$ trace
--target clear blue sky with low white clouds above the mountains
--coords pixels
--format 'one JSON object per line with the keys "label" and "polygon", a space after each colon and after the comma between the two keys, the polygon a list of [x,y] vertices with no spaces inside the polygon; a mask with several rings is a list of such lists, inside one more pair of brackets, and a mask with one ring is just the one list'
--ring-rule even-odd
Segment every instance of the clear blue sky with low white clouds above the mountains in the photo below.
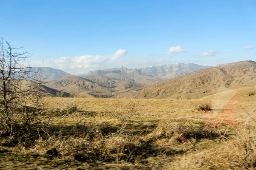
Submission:
{"label": "clear blue sky with low white clouds above the mountains", "polygon": [[0,23],[32,66],[71,74],[256,60],[255,0],[0,0]]}

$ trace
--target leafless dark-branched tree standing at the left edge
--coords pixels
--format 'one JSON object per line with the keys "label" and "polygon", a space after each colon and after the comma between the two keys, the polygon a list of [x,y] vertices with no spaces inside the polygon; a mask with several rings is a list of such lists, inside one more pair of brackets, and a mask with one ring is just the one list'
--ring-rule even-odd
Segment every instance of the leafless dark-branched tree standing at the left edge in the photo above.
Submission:
{"label": "leafless dark-branched tree standing at the left edge", "polygon": [[44,122],[41,75],[25,66],[30,54],[20,52],[22,48],[0,40],[0,128],[10,136],[14,128],[27,129]]}

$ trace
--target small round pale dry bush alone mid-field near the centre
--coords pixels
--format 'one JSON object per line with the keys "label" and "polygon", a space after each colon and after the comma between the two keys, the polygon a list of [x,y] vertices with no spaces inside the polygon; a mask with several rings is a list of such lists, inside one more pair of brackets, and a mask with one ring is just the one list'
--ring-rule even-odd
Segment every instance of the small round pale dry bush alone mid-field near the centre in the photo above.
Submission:
{"label": "small round pale dry bush alone mid-field near the centre", "polygon": [[111,108],[112,110],[108,111],[107,114],[124,123],[130,121],[132,117],[139,114],[140,105],[129,100],[129,102],[116,102]]}

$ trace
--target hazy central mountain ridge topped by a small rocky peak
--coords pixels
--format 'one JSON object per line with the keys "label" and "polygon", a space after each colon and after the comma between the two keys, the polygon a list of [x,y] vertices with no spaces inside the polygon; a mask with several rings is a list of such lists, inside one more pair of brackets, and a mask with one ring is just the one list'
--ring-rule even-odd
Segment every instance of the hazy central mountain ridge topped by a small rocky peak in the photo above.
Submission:
{"label": "hazy central mountain ridge topped by a small rocky peak", "polygon": [[86,76],[68,75],[57,80],[45,82],[49,88],[64,91],[69,94],[77,94],[81,97],[113,96],[113,92],[119,93],[131,89],[142,88],[163,82],[164,78],[153,77],[134,69],[121,67],[119,69],[96,70]]}

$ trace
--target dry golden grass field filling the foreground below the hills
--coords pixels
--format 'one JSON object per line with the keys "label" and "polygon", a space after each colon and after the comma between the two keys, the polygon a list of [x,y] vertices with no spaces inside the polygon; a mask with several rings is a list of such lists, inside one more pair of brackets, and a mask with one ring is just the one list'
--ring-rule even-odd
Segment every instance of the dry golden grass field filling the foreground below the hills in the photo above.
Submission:
{"label": "dry golden grass field filling the foreground below the hills", "polygon": [[[44,98],[49,129],[31,146],[1,139],[0,169],[254,169],[253,92],[190,100]],[[198,110],[203,103],[211,110]]]}

